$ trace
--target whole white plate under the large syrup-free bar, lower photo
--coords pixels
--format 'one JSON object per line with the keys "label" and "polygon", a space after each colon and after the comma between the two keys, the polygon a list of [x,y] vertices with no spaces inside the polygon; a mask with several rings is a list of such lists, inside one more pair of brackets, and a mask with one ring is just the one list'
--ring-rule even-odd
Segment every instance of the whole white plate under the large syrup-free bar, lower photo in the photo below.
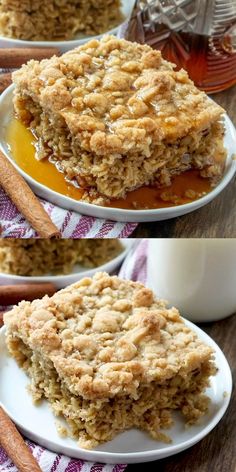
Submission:
{"label": "whole white plate under the large syrup-free bar, lower photo", "polygon": [[44,401],[37,407],[33,405],[26,390],[29,379],[16,362],[8,356],[5,346],[5,328],[0,330],[0,405],[26,437],[69,457],[92,462],[131,464],[172,456],[196,444],[216,426],[228,407],[232,390],[231,372],[223,352],[200,328],[189,321],[186,321],[186,324],[198,334],[202,341],[213,347],[219,371],[216,376],[212,377],[211,386],[207,389],[207,394],[211,398],[208,414],[198,425],[187,429],[183,419],[176,414],[175,425],[168,430],[173,440],[171,445],[157,442],[147,433],[135,429],[121,433],[112,441],[93,450],[81,449],[72,439],[60,438],[55,426],[55,417],[48,403]]}

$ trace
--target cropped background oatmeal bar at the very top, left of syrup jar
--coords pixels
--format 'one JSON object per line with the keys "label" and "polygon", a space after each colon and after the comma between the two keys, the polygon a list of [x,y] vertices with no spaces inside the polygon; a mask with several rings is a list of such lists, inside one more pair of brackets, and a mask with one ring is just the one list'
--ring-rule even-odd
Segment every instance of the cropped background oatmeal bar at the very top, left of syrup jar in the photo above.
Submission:
{"label": "cropped background oatmeal bar at the very top, left of syrup jar", "polygon": [[121,23],[120,0],[0,0],[0,32],[30,41],[105,33]]}

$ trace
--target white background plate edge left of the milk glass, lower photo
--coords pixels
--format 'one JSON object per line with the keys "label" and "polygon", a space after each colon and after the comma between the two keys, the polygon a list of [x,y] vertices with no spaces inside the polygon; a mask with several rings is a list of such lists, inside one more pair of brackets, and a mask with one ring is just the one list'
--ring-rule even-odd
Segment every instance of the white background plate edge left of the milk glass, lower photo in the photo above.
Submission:
{"label": "white background plate edge left of the milk glass, lower photo", "polygon": [[51,282],[53,283],[58,289],[64,288],[67,285],[73,284],[78,280],[82,279],[82,277],[92,277],[96,272],[108,272],[108,274],[112,273],[116,270],[124,258],[127,256],[129,250],[134,244],[134,239],[121,239],[120,242],[124,248],[124,250],[105,264],[96,267],[94,269],[88,269],[83,267],[82,265],[76,264],[70,274],[67,275],[41,275],[41,276],[33,276],[33,277],[26,277],[20,275],[12,275],[12,274],[4,274],[0,272],[0,285],[17,285],[17,284],[34,284],[34,283],[46,283]]}

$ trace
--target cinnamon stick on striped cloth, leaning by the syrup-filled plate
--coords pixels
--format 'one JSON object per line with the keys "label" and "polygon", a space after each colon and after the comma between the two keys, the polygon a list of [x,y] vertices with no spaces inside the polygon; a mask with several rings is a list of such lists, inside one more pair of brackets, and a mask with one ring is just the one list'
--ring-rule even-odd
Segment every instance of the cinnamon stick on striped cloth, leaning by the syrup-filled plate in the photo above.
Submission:
{"label": "cinnamon stick on striped cloth, leaning by the syrup-filled plate", "polygon": [[61,236],[28,184],[1,151],[0,185],[41,238]]}

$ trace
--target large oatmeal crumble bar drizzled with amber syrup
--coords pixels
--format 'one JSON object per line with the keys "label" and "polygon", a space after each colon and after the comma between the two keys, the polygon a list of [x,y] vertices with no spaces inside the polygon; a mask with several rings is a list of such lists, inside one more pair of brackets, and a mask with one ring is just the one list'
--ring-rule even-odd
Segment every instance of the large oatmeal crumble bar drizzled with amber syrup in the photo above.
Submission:
{"label": "large oatmeal crumble bar drizzled with amber syrup", "polygon": [[213,182],[222,175],[223,109],[147,45],[105,36],[30,61],[13,81],[15,112],[38,138],[37,158],[57,163],[88,200],[94,191],[109,199],[169,185],[190,168]]}

